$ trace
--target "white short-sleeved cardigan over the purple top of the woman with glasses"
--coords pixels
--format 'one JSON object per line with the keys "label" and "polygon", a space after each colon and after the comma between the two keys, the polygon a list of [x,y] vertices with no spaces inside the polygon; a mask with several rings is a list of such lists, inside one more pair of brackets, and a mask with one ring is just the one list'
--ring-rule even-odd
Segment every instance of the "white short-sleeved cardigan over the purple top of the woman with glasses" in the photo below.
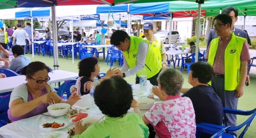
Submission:
{"label": "white short-sleeved cardigan over the purple top of the woman with glasses", "polygon": [[[50,89],[52,92],[56,92],[56,90],[54,90],[51,84],[49,83],[47,84],[50,86]],[[29,91],[27,91],[26,83],[20,84],[19,86],[14,88],[11,93],[9,108],[11,107],[12,101],[16,99],[22,98],[23,102],[27,102],[28,95],[29,95]]]}

